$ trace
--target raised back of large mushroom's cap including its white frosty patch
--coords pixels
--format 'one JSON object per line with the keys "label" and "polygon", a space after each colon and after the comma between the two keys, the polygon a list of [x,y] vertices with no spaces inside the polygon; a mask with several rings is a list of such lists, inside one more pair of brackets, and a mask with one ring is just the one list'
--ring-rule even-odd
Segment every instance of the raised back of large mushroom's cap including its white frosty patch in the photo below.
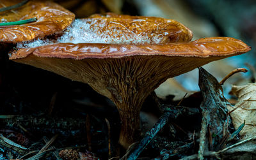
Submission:
{"label": "raised back of large mushroom's cap including its white frosty patch", "polygon": [[192,37],[192,31],[175,20],[108,13],[74,20],[57,39],[22,42],[17,48],[51,43],[166,44]]}

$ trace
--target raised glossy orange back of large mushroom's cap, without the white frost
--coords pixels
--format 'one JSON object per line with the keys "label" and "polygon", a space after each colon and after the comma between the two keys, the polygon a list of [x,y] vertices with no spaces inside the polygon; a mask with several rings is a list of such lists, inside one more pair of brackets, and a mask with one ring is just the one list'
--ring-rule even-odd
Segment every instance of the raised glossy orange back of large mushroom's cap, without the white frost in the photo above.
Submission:
{"label": "raised glossy orange back of large mushroom's cap, without the white frost", "polygon": [[188,27],[172,19],[107,13],[106,15],[95,14],[82,20],[88,19],[94,20],[93,26],[99,25],[101,32],[110,36],[113,36],[116,30],[120,35],[147,36],[150,43],[158,44],[191,41],[193,38],[193,33]]}

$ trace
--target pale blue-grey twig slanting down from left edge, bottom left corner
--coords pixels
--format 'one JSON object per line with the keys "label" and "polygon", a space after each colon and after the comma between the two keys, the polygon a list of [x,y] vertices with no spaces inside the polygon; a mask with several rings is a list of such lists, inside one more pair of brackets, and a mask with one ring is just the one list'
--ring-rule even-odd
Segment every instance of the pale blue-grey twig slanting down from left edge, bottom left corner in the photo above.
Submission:
{"label": "pale blue-grey twig slanting down from left edge, bottom left corner", "polygon": [[0,144],[8,147],[9,149],[13,149],[19,154],[25,154],[28,150],[26,147],[22,147],[21,145],[13,142],[12,140],[9,140],[8,138],[4,137],[2,134],[0,134]]}

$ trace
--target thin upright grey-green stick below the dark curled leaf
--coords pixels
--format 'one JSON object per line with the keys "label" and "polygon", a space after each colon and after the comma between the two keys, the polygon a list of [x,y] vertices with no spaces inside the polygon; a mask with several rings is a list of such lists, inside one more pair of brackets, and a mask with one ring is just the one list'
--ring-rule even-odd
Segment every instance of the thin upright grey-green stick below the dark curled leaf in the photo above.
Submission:
{"label": "thin upright grey-green stick below the dark curled leaf", "polygon": [[198,150],[198,159],[204,159],[204,149],[205,149],[205,135],[207,133],[207,110],[202,110],[202,127],[200,131],[200,143]]}

